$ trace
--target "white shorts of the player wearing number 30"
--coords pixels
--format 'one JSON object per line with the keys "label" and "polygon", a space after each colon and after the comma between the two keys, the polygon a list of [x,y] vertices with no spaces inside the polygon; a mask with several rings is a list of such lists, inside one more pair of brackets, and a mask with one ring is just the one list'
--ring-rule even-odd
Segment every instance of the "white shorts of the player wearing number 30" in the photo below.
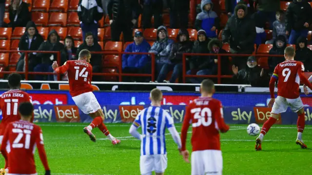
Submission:
{"label": "white shorts of the player wearing number 30", "polygon": [[191,156],[192,175],[222,175],[220,150],[194,151]]}

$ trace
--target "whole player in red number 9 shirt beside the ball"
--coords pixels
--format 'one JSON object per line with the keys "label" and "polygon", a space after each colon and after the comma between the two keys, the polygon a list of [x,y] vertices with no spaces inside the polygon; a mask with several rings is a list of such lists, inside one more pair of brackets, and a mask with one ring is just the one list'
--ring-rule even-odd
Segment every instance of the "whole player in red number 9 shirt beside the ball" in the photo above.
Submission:
{"label": "whole player in red number 9 shirt beside the ball", "polygon": [[[302,132],[305,126],[304,116],[304,105],[300,98],[299,84],[300,80],[312,89],[312,85],[308,79],[303,75],[304,66],[300,61],[294,61],[295,50],[289,46],[284,51],[284,57],[286,61],[278,64],[275,67],[272,78],[270,80],[270,93],[271,100],[268,107],[272,107],[271,117],[266,121],[260,132],[259,137],[256,139],[255,150],[262,150],[261,143],[265,134],[268,133],[271,126],[277,121],[280,113],[286,112],[288,106],[293,112],[298,114],[297,120],[297,140],[296,144],[300,145],[301,148],[307,148],[307,145],[302,141]],[[276,80],[277,83],[277,97],[274,96],[274,85]]]}

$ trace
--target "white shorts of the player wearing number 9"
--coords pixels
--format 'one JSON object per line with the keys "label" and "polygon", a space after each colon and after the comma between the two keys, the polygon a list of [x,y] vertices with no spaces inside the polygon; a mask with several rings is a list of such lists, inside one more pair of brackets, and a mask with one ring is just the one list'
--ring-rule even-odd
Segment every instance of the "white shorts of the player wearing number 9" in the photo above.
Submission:
{"label": "white shorts of the player wearing number 9", "polygon": [[300,109],[304,107],[300,97],[296,99],[287,99],[281,96],[277,96],[274,105],[272,107],[271,113],[280,114],[286,112],[288,106],[291,107],[293,112],[298,112]]}

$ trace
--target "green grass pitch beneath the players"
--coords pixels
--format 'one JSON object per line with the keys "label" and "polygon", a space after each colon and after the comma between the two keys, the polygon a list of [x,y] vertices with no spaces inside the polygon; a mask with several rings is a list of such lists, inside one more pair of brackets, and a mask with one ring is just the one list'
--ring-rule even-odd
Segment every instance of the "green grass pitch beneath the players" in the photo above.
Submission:
{"label": "green grass pitch beneath the players", "polygon": [[[120,145],[112,145],[95,129],[94,143],[82,132],[84,124],[41,123],[45,149],[52,174],[56,175],[139,175],[140,142],[128,133],[129,124],[107,124],[115,137],[128,137]],[[254,151],[255,137],[246,133],[247,125],[231,125],[221,134],[224,175],[311,175],[312,149],[301,149],[295,144],[295,125],[274,125],[265,136],[263,151]],[[283,127],[283,128],[281,128]],[[178,131],[181,125],[176,124]],[[190,139],[191,133],[188,134]],[[191,165],[183,161],[170,135],[167,138],[167,175],[190,175]],[[99,140],[101,139],[101,140]],[[305,143],[312,146],[312,127],[303,134]],[[187,147],[191,151],[190,140]],[[36,153],[37,171],[44,172]],[[4,165],[0,158],[0,165]]]}

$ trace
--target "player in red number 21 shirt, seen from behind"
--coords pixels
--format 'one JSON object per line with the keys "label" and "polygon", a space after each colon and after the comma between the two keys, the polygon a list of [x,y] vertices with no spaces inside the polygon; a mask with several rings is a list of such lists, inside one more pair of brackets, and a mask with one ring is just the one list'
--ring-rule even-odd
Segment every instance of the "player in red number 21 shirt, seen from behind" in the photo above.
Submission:
{"label": "player in red number 21 shirt, seen from behind", "polygon": [[37,175],[34,159],[35,146],[38,148],[45,175],[50,175],[41,128],[30,122],[34,106],[30,102],[21,103],[19,112],[21,120],[7,125],[0,148],[4,159],[8,161],[7,175]]}

